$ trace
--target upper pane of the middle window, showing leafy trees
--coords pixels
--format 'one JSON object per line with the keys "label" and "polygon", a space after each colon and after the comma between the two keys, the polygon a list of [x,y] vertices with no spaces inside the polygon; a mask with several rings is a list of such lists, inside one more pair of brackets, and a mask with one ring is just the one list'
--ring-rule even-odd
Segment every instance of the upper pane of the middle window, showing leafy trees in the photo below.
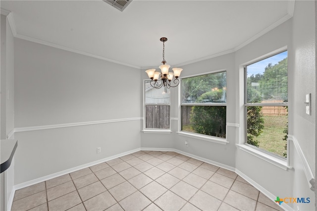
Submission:
{"label": "upper pane of the middle window, showing leafy trees", "polygon": [[226,103],[226,72],[182,79],[182,103]]}

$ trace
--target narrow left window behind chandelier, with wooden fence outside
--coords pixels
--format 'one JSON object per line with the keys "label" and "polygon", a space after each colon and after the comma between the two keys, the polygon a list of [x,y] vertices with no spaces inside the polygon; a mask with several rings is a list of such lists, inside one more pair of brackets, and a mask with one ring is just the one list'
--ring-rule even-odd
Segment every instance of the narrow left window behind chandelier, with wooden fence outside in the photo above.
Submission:
{"label": "narrow left window behind chandelier, with wooden fence outside", "polygon": [[145,129],[170,129],[170,90],[153,88],[150,80],[144,83]]}

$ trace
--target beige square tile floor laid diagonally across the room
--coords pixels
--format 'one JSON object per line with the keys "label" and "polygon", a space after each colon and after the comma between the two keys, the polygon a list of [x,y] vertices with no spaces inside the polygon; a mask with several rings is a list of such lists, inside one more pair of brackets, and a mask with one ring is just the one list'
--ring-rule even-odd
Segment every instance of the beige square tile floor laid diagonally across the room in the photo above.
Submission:
{"label": "beige square tile floor laid diagonally across the room", "polygon": [[139,151],[17,190],[11,210],[282,211],[232,171],[158,151]]}

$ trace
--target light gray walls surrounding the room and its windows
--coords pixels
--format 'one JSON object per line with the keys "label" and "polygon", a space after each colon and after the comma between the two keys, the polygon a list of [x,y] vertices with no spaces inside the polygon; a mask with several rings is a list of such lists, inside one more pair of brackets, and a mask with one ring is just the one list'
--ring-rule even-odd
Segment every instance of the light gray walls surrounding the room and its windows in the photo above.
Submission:
{"label": "light gray walls surrounding the room and its windows", "polygon": [[[296,1],[293,18],[247,46],[234,53],[182,66],[182,77],[226,69],[227,122],[240,125],[227,127],[229,143],[226,145],[177,133],[179,87],[171,90],[172,132],[143,133],[142,120],[129,120],[143,116],[143,79],[147,79],[143,70],[14,38],[14,136],[19,140],[15,184],[135,149],[172,149],[236,169],[272,196],[310,197],[310,204],[296,206],[300,210],[314,210],[314,192],[310,190],[301,156],[305,155],[316,177],[315,16],[315,1]],[[288,156],[294,168],[287,170],[236,146],[244,142],[240,67],[285,46],[289,53],[289,134],[302,150],[299,154],[290,142]],[[125,75],[118,80],[129,79],[129,83],[118,85],[113,80],[116,75]],[[7,86],[10,83],[13,84],[6,81]],[[308,93],[312,93],[311,116],[305,114],[303,104]],[[6,104],[6,110],[9,107],[12,106]],[[12,114],[6,112],[6,116],[13,116],[13,111],[9,113]],[[13,118],[10,119],[6,130],[12,128]],[[120,121],[112,121],[117,119]],[[75,126],[85,122],[97,123]],[[60,127],[50,128],[52,125]],[[185,147],[185,140],[189,147]],[[96,154],[97,147],[102,148],[101,154]],[[289,206],[297,210],[294,205]]]}

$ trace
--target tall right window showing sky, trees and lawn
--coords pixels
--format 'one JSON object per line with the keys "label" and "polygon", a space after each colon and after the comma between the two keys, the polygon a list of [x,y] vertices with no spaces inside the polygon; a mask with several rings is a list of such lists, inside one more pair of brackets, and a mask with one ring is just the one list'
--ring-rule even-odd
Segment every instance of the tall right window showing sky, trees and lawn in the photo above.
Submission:
{"label": "tall right window showing sky, trees and lawn", "polygon": [[286,158],[287,51],[245,67],[246,143]]}

